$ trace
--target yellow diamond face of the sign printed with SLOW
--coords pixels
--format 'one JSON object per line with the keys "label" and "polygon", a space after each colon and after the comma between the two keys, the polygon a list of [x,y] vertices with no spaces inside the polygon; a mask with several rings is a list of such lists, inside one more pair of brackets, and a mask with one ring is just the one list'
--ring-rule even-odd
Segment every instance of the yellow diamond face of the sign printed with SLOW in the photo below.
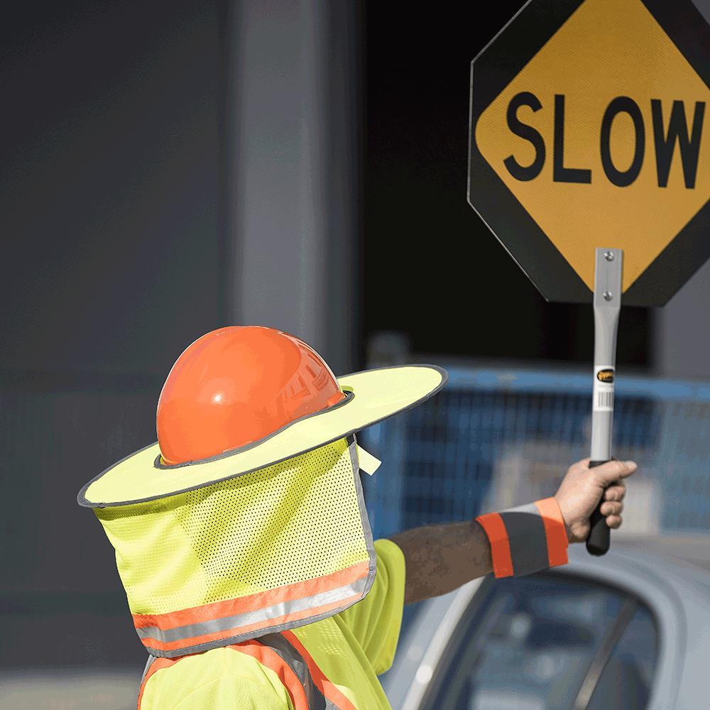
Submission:
{"label": "yellow diamond face of the sign printed with SLOW", "polygon": [[[653,5],[568,2],[569,16],[477,116],[474,62],[476,155],[589,290],[596,247],[623,249],[626,292],[710,197],[710,89]],[[479,209],[474,184],[469,201]]]}

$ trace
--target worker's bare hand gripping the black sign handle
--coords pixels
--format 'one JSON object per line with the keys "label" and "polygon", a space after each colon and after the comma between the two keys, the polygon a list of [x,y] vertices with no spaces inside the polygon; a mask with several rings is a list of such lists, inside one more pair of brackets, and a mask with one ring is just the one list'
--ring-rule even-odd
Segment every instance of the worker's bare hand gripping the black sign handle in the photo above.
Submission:
{"label": "worker's bare hand gripping the black sign handle", "polygon": [[608,461],[590,469],[589,459],[582,459],[569,466],[555,493],[569,542],[584,542],[589,536],[589,516],[602,497],[601,514],[606,517],[606,524],[614,529],[621,527],[623,497],[626,496],[623,479],[635,470],[633,461]]}

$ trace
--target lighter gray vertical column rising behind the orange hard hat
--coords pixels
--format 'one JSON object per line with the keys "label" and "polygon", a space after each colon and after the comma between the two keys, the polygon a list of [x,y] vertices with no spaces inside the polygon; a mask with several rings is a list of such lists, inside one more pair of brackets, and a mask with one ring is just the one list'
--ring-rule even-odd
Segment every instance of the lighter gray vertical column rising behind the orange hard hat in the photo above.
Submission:
{"label": "lighter gray vertical column rising behind the orange hard hat", "polygon": [[231,13],[228,317],[292,332],[348,371],[359,320],[358,11],[245,0]]}

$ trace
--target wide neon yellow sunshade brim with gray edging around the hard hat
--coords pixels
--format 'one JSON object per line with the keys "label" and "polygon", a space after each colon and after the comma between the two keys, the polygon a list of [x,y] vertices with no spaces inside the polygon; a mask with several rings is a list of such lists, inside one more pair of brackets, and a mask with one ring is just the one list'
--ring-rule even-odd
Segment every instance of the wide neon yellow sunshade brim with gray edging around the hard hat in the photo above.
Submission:
{"label": "wide neon yellow sunshade brim with gray edging around the hard hat", "polygon": [[274,432],[258,442],[202,461],[160,464],[158,443],[130,454],[79,492],[85,508],[127,506],[167,498],[249,474],[305,454],[415,407],[437,393],[447,373],[436,365],[384,367],[344,375],[338,383],[347,397]]}

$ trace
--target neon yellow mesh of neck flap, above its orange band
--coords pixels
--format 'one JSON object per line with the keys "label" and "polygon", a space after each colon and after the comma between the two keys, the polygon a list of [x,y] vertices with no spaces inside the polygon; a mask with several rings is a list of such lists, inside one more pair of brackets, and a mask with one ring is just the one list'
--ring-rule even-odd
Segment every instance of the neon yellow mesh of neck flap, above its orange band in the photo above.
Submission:
{"label": "neon yellow mesh of neck flap, above its orange band", "polygon": [[94,512],[131,612],[167,613],[366,562],[355,475],[340,439],[196,491]]}

